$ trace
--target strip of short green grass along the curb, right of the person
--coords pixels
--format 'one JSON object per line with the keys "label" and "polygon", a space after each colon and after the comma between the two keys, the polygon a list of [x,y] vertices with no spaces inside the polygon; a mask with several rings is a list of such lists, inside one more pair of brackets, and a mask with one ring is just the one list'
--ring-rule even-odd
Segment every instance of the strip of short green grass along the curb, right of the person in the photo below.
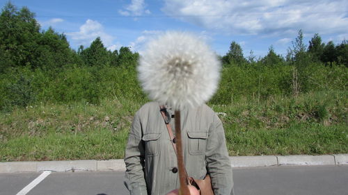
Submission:
{"label": "strip of short green grass along the curb, right of the person", "polygon": [[348,152],[346,125],[292,124],[288,128],[240,131],[228,128],[230,155],[321,155]]}

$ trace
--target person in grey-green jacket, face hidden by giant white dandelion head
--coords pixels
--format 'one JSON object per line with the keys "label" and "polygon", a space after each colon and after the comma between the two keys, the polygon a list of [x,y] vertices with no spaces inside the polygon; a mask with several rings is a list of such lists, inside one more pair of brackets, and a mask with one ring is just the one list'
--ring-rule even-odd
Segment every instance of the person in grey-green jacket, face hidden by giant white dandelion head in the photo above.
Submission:
{"label": "person in grey-green jacket, face hidden by giant white dandelion head", "polygon": [[[180,194],[188,195],[192,188],[185,178],[209,174],[215,195],[233,194],[223,126],[205,104],[217,90],[221,61],[199,36],[186,32],[168,31],[146,47],[138,78],[153,101],[136,112],[129,132],[127,189],[132,195],[164,195],[180,187]],[[177,137],[171,138],[168,124]]]}

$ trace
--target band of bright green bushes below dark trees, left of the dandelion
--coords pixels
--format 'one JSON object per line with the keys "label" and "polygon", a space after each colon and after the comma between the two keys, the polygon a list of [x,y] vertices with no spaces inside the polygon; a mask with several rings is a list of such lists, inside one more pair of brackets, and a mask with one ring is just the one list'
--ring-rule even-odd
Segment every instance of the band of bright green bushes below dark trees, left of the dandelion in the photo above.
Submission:
{"label": "band of bright green bushes below dark trees, left of the dandelion", "polygon": [[73,65],[63,69],[42,70],[17,68],[0,75],[0,108],[25,107],[36,102],[100,103],[105,97],[144,101],[136,68],[84,67]]}

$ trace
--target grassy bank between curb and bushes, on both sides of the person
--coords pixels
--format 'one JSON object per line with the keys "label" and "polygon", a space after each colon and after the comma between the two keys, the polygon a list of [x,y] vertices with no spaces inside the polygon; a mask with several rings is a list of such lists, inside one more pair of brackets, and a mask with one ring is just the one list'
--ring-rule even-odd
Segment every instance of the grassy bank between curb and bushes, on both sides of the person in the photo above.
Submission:
{"label": "grassy bank between curb and bushes, on both sides of the person", "polygon": [[[230,155],[348,153],[345,91],[209,104],[220,115]],[[0,160],[123,158],[129,126],[145,102],[40,103],[0,113]]]}

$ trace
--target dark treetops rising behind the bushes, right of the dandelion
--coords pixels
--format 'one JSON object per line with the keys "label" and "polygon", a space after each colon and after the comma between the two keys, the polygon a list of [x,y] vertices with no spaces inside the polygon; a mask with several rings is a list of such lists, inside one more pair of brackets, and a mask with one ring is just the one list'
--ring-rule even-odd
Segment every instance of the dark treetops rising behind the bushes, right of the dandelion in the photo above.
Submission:
{"label": "dark treetops rising behind the bushes, right of the dandelion", "polygon": [[257,62],[259,65],[294,65],[298,60],[306,59],[307,62],[319,62],[324,65],[340,64],[348,67],[348,41],[343,40],[340,44],[333,41],[322,42],[319,34],[309,41],[308,46],[303,42],[303,32],[300,30],[292,47],[287,49],[287,56],[280,56],[270,46],[269,51],[263,58],[256,58],[253,51],[250,56],[244,57],[242,47],[235,41],[230,44],[230,50],[221,57],[225,65],[247,65]]}

